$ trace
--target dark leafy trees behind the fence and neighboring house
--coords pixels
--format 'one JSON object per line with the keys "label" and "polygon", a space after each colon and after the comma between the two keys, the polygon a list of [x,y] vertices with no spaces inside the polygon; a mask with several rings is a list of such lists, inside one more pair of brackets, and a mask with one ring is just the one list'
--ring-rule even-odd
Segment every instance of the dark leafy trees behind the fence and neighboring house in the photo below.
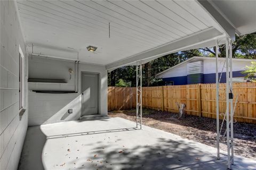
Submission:
{"label": "dark leafy trees behind the fence and neighboring house", "polygon": [[[234,58],[252,58],[256,59],[256,33],[236,37],[232,44]],[[215,47],[205,47],[199,49],[185,50],[178,53],[168,54],[159,57],[142,65],[142,86],[161,86],[164,81],[156,77],[156,74],[170,67],[177,65],[193,56],[215,57]],[[219,57],[226,56],[225,45],[219,46]],[[118,80],[122,79],[126,86],[136,86],[136,67],[124,66],[112,71],[108,75],[108,85],[117,86]],[[119,86],[119,85],[118,85]]]}

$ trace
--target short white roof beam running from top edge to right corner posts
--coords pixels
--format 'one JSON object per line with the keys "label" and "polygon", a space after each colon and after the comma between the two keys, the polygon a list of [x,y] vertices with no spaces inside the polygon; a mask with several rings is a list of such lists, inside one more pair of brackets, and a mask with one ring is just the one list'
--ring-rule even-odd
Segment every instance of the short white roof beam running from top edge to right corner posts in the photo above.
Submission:
{"label": "short white roof beam running from top edge to right corner posts", "polygon": [[219,12],[216,6],[206,0],[197,0],[197,2],[212,16],[213,20],[220,25],[227,36],[229,36],[230,39],[235,40],[236,28],[233,27],[233,25]]}

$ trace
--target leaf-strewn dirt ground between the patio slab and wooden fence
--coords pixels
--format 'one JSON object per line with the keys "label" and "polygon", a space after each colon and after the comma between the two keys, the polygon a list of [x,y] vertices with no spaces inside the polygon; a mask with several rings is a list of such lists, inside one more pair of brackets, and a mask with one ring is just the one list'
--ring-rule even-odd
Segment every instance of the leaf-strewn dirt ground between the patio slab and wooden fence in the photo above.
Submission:
{"label": "leaf-strewn dirt ground between the patio slab and wooden fence", "polygon": [[[109,112],[109,116],[136,121],[135,109]],[[177,113],[143,109],[142,124],[216,147],[216,120],[212,118],[186,115],[185,118],[178,119]],[[225,130],[226,122],[221,134]],[[221,138],[220,149],[224,151],[227,150],[225,142]],[[255,124],[234,123],[234,151],[236,155],[256,159]]]}

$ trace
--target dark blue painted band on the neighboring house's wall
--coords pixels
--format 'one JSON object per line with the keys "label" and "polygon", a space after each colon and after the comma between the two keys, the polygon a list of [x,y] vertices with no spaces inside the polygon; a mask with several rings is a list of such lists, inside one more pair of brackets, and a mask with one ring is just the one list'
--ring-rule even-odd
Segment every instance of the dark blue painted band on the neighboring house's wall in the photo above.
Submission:
{"label": "dark blue painted band on the neighboring house's wall", "polygon": [[[245,75],[241,73],[242,71],[233,71],[233,77],[244,77]],[[220,77],[219,73],[219,77]],[[192,74],[190,74],[192,75]],[[215,73],[210,73],[210,74],[202,74],[203,80],[201,80],[200,83],[215,83]],[[180,77],[172,77],[172,78],[163,78],[163,81],[169,82],[173,81],[174,85],[186,85],[190,81],[189,75],[188,76],[180,76]],[[221,76],[221,83],[226,83],[226,72],[222,73]],[[199,82],[198,82],[199,83]]]}

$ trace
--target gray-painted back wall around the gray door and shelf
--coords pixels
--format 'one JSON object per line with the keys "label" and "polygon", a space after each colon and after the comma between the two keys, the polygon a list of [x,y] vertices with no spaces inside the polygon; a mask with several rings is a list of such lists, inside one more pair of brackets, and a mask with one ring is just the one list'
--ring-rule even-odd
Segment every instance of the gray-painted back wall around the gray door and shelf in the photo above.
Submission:
{"label": "gray-painted back wall around the gray door and shelf", "polygon": [[[70,80],[69,69],[74,71]],[[99,73],[99,113],[107,115],[107,70],[105,66],[79,64],[77,94],[41,94],[32,90],[75,90],[75,63],[30,56],[29,78],[65,79],[67,83],[29,82],[29,126],[79,119],[82,71]],[[68,114],[68,109],[73,109],[73,113]]]}

